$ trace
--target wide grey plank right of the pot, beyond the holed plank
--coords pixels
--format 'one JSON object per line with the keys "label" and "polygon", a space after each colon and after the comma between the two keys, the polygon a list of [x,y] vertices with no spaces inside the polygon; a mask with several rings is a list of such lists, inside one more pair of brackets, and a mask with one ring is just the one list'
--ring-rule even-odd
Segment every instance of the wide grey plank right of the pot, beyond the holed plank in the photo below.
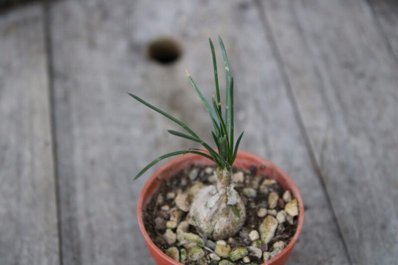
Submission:
{"label": "wide grey plank right of the pot, beyond the holed plank", "polygon": [[363,1],[264,2],[354,264],[398,253],[397,61]]}

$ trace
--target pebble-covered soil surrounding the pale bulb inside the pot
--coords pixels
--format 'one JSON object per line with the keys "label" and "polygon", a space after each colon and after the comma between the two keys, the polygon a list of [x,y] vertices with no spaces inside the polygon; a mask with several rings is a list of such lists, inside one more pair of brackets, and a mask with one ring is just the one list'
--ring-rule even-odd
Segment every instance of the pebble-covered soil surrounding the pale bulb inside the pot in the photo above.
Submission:
{"label": "pebble-covered soil surrounding the pale bulb inside the pot", "polygon": [[145,229],[166,255],[187,265],[262,264],[278,255],[297,230],[298,204],[290,191],[255,167],[232,169],[246,208],[246,220],[233,237],[212,241],[189,225],[190,203],[200,188],[213,184],[215,168],[192,165],[163,180],[143,211]]}

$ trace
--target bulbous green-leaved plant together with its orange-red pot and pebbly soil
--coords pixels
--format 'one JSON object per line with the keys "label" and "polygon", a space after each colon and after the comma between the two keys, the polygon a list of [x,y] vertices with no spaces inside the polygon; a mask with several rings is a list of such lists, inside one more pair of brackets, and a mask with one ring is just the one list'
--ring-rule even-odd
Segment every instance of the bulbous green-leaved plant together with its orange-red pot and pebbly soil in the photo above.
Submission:
{"label": "bulbous green-leaved plant together with its orange-red pot and pebbly soil", "polygon": [[302,199],[281,169],[238,151],[243,132],[234,142],[233,78],[224,44],[220,37],[218,40],[226,76],[225,109],[210,39],[216,91],[212,105],[187,72],[210,116],[216,149],[183,122],[129,93],[187,131],[169,133],[203,147],[160,156],[137,174],[135,179],[159,161],[179,155],[143,187],[137,210],[139,226],[158,264],[285,264],[301,231]]}

